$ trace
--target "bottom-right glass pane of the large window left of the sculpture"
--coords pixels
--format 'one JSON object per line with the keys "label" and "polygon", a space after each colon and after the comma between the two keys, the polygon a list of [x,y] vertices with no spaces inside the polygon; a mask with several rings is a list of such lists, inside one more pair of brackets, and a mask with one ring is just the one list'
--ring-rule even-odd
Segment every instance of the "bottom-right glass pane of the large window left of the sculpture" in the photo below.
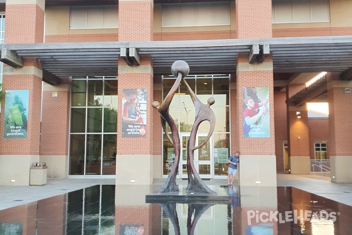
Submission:
{"label": "bottom-right glass pane of the large window left of the sculpture", "polygon": [[103,136],[103,175],[116,174],[116,137],[117,135]]}

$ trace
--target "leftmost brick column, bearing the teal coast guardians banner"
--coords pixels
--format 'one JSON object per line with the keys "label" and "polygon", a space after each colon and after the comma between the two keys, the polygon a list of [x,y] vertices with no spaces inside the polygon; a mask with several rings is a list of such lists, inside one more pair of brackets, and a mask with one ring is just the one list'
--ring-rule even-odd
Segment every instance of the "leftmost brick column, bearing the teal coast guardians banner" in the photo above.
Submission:
{"label": "leftmost brick column, bearing the teal coast guardians banner", "polygon": [[[20,3],[20,4],[19,4]],[[42,43],[44,0],[6,1],[5,43]],[[27,138],[0,138],[0,185],[29,184],[29,167],[39,161],[42,67],[34,58],[24,58],[23,68],[4,66],[3,89],[29,90]],[[26,97],[23,97],[26,99]],[[3,100],[4,101],[4,100]],[[2,102],[1,135],[5,102]],[[14,183],[10,183],[14,179]]]}

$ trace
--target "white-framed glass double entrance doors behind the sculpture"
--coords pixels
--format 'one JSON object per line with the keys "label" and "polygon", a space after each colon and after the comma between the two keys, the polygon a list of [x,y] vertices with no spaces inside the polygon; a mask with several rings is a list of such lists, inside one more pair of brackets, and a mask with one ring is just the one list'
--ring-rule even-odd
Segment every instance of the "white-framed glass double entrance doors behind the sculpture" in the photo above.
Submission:
{"label": "white-framed glass double entrance doors behind the sculpture", "polygon": [[[207,134],[197,134],[196,136],[196,146],[202,143]],[[180,178],[187,178],[187,142],[189,140],[189,134],[181,134],[181,156],[182,159],[180,161]],[[212,143],[212,138],[207,141],[201,148],[196,149],[194,151],[194,166],[203,179],[212,179],[213,178],[213,147],[210,143]]]}

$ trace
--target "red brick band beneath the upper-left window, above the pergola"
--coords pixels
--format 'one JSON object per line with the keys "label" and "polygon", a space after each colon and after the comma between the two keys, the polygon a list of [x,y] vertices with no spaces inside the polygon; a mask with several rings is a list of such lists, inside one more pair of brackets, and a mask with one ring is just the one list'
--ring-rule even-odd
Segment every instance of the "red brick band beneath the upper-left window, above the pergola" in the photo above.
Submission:
{"label": "red brick band beneath the upper-left window, above the pergola", "polygon": [[45,35],[45,42],[115,42],[118,33]]}

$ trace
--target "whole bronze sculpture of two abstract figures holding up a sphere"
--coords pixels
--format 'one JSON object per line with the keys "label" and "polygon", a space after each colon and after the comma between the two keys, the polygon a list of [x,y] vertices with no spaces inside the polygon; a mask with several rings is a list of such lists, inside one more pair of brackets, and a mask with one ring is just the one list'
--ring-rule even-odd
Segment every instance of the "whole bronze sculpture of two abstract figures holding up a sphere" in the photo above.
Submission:
{"label": "whole bronze sculpture of two abstract figures holding up a sphere", "polygon": [[[210,97],[207,101],[207,104],[203,104],[192,91],[192,89],[187,84],[187,81],[184,79],[189,73],[189,66],[185,61],[175,61],[171,66],[172,75],[174,75],[177,79],[174,85],[171,87],[169,93],[166,95],[165,99],[161,104],[158,101],[154,101],[152,106],[158,110],[161,115],[161,123],[163,126],[163,130],[169,139],[169,141],[174,146],[175,151],[175,161],[174,165],[171,168],[168,178],[166,179],[165,183],[161,187],[160,193],[170,193],[170,192],[178,192],[179,189],[176,185],[176,174],[178,170],[178,164],[180,162],[180,136],[178,134],[177,127],[175,125],[174,120],[169,115],[168,109],[171,103],[172,98],[175,95],[175,92],[178,89],[178,85],[180,84],[181,80],[183,84],[186,86],[190,97],[193,101],[195,107],[195,121],[192,126],[190,137],[187,143],[187,175],[188,175],[188,185],[186,188],[186,192],[193,192],[193,193],[209,193],[209,194],[216,194],[213,190],[211,190],[200,178],[199,174],[196,171],[194,166],[194,150],[201,148],[207,141],[210,139],[210,136],[213,134],[214,127],[215,127],[215,115],[212,109],[210,109],[210,105],[215,103],[215,99]],[[210,123],[210,128],[207,137],[203,142],[201,142],[198,146],[195,147],[196,142],[196,135],[199,128],[199,125],[203,121],[208,121]],[[166,122],[169,124],[172,134],[172,139],[168,134],[166,129]]]}

